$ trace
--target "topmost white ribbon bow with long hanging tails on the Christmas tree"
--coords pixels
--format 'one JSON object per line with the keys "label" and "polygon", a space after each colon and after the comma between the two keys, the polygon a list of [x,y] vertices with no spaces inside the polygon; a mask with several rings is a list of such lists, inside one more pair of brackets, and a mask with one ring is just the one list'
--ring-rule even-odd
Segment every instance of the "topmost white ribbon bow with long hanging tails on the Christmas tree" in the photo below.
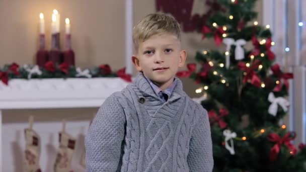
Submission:
{"label": "topmost white ribbon bow with long hanging tails on the Christmas tree", "polygon": [[242,60],[245,58],[245,52],[242,48],[242,45],[245,45],[247,42],[244,39],[239,39],[235,42],[233,38],[224,38],[223,43],[226,45],[226,51],[228,54],[225,55],[225,67],[228,69],[230,67],[230,50],[232,45],[236,45],[235,48],[235,59]]}

